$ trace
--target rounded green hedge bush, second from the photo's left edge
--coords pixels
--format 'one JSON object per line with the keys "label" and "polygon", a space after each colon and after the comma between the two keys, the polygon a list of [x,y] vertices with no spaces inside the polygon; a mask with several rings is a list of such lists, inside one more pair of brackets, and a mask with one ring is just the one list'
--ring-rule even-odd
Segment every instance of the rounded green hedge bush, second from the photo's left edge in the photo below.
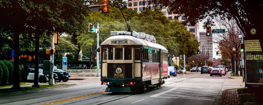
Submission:
{"label": "rounded green hedge bush, second from the photo's left edge", "polygon": [[3,61],[0,61],[0,66],[2,67],[2,70],[3,70],[3,77],[1,80],[1,85],[6,85],[8,84],[9,71]]}

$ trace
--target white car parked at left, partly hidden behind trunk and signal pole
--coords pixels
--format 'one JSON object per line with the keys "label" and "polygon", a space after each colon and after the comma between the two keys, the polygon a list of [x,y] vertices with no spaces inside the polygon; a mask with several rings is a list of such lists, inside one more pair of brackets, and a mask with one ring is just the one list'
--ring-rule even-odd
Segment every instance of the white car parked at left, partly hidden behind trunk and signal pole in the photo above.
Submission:
{"label": "white car parked at left, partly hidden behind trunk and signal pole", "polygon": [[[35,77],[35,68],[28,68],[27,80],[34,80]],[[58,75],[55,74],[55,80],[58,81]],[[43,74],[43,69],[38,68],[38,82],[46,83],[48,82],[48,75]]]}

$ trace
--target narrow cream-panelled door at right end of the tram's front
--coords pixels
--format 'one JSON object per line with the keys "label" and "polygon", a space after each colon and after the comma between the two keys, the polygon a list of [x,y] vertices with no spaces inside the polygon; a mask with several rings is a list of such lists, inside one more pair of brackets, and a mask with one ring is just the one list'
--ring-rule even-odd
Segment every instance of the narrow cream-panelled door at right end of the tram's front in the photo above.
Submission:
{"label": "narrow cream-panelled door at right end of the tram's front", "polygon": [[141,52],[140,48],[134,49],[134,77],[141,77]]}

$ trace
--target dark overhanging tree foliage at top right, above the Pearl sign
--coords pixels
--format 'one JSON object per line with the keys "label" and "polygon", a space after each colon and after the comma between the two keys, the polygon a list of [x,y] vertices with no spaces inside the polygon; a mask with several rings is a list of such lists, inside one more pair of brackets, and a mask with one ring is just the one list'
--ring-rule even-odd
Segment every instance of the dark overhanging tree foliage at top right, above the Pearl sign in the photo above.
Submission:
{"label": "dark overhanging tree foliage at top right, above the Pearl sign", "polygon": [[[263,1],[219,1],[219,0],[186,0],[186,1],[169,1],[169,0],[150,0],[149,4],[154,6],[168,7],[169,12],[178,15],[184,15],[184,23],[196,24],[205,18],[213,19],[218,15],[223,18],[235,19],[237,26],[244,33],[244,26],[248,24],[262,24],[261,16],[258,16],[257,10],[262,10]],[[205,22],[205,27],[209,24]]]}

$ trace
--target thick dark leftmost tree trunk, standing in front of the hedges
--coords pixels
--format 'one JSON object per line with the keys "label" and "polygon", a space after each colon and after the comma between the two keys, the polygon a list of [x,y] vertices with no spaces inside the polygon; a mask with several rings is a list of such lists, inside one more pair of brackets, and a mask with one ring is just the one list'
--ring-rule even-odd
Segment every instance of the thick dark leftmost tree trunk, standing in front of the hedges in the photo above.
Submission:
{"label": "thick dark leftmost tree trunk, standing in front of the hedges", "polygon": [[19,31],[18,29],[15,29],[15,33],[14,33],[14,48],[15,48],[15,52],[14,52],[14,83],[13,83],[13,87],[11,89],[21,89],[20,85],[19,85]]}

